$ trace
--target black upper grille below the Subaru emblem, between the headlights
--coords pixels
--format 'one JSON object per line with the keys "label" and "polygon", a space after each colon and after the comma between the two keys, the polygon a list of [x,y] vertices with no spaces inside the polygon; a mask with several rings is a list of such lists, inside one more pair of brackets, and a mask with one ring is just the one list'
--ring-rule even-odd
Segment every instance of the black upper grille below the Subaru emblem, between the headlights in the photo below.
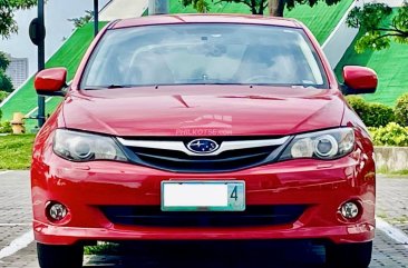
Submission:
{"label": "black upper grille below the Subaru emblem, between the headlights", "polygon": [[[179,142],[183,147],[187,143]],[[146,147],[132,143],[124,147],[130,160],[143,166],[175,172],[226,172],[272,162],[284,148],[284,142],[231,149],[211,156],[188,155],[177,149],[152,148],[149,143],[146,143]]]}

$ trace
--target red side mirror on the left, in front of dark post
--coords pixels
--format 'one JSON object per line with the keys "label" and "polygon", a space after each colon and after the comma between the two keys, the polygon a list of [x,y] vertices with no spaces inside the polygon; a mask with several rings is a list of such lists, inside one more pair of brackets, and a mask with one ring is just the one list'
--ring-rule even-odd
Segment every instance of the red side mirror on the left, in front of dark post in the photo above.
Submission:
{"label": "red side mirror on the left, in front of dark post", "polygon": [[65,96],[62,89],[67,87],[67,69],[51,68],[37,73],[35,88],[38,95]]}

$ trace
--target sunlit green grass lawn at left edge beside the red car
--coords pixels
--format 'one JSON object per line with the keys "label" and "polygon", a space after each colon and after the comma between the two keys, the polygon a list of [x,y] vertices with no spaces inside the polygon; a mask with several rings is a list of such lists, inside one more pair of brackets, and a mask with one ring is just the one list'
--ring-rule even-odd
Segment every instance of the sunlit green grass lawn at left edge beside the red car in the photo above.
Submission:
{"label": "sunlit green grass lawn at left edge beside the red car", "polygon": [[33,135],[0,136],[0,170],[29,169]]}

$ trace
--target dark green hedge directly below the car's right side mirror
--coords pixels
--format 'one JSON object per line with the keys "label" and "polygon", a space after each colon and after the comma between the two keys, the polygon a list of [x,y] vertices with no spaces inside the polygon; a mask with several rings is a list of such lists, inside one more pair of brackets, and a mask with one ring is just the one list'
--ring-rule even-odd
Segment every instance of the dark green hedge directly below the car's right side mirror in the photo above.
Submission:
{"label": "dark green hedge directly below the car's right side mirror", "polygon": [[346,99],[367,127],[382,127],[395,121],[394,110],[388,106],[370,103],[358,96],[348,96]]}

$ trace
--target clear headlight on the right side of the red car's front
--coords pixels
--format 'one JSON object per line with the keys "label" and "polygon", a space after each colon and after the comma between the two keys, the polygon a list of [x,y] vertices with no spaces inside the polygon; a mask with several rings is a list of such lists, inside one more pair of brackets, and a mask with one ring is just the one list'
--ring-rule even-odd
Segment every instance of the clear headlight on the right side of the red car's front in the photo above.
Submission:
{"label": "clear headlight on the right side of the red car's front", "polygon": [[352,128],[339,128],[294,137],[280,160],[295,158],[337,159],[354,149]]}

